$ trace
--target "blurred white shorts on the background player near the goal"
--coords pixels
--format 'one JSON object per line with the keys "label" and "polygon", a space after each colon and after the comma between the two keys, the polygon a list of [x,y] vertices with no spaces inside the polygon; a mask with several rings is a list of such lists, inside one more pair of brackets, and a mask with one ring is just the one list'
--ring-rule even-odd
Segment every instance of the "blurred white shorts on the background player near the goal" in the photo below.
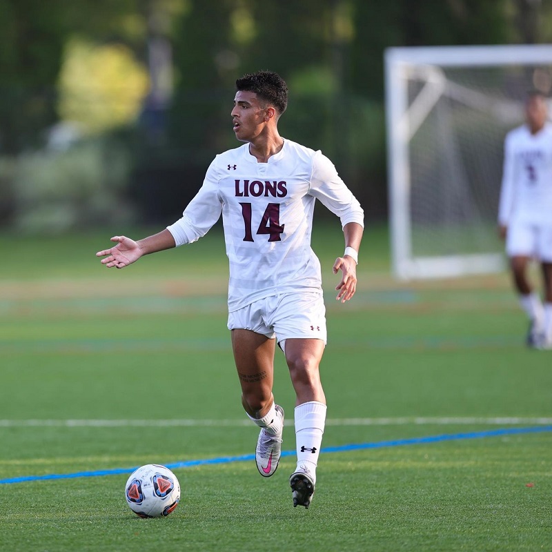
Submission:
{"label": "blurred white shorts on the background player near the goal", "polygon": [[506,233],[506,254],[552,262],[552,224],[513,222]]}

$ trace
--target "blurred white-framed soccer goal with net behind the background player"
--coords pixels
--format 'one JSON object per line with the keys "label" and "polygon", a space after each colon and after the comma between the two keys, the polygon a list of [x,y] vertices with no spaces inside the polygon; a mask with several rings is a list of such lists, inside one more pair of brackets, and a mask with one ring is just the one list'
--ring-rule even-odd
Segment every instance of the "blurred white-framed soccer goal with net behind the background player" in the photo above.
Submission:
{"label": "blurred white-framed soccer goal with net behind the background player", "polygon": [[394,275],[502,270],[504,137],[551,91],[552,46],[388,48],[385,70]]}

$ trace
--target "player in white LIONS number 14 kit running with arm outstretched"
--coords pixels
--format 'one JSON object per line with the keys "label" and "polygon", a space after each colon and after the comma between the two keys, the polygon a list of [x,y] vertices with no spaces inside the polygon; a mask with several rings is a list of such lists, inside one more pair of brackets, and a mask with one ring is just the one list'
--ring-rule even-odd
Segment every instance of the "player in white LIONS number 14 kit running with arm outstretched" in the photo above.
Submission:
{"label": "player in white LIONS number 14 kit running with arm outstretched", "polygon": [[264,477],[273,475],[282,451],[284,410],[273,397],[277,342],[296,394],[293,506],[308,508],[326,421],[319,376],[326,317],[320,263],[311,249],[315,199],[341,220],[345,250],[333,273],[341,271],[336,299],[342,303],[355,294],[364,213],[327,157],[279,135],[278,119],[288,100],[279,75],[244,75],[236,88],[230,115],[244,144],[215,157],[175,224],[138,242],[112,237],[117,245],[97,256],[108,268],[124,268],[142,255],[195,242],[222,214],[230,263],[228,329],[242,404],[261,428],[257,469]]}

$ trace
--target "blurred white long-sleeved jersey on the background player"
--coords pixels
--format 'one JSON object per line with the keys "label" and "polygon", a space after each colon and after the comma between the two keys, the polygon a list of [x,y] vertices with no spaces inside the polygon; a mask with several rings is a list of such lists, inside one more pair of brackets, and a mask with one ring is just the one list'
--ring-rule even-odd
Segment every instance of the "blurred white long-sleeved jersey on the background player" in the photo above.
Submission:
{"label": "blurred white long-sleeved jersey on the background player", "polygon": [[506,135],[498,220],[552,224],[552,124],[535,135],[526,125]]}

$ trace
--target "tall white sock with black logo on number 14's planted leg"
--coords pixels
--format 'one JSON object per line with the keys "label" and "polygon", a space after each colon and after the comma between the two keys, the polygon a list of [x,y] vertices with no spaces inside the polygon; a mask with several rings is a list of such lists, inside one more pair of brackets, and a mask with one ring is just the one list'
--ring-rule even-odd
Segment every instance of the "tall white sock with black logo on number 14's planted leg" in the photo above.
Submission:
{"label": "tall white sock with black logo on number 14's planted leg", "polygon": [[316,482],[316,466],[326,425],[326,405],[311,401],[295,407],[297,471],[308,471]]}

